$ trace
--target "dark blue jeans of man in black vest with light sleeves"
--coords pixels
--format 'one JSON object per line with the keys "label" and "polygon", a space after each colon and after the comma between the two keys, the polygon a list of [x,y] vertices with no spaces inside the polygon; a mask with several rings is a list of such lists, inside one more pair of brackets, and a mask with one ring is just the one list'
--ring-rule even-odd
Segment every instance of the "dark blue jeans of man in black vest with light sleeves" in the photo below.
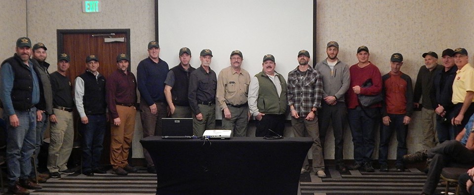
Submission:
{"label": "dark blue jeans of man in black vest with light sleeves", "polygon": [[80,129],[82,135],[82,171],[84,172],[99,168],[107,122],[105,114],[89,115],[87,118],[89,123],[81,123],[82,128]]}

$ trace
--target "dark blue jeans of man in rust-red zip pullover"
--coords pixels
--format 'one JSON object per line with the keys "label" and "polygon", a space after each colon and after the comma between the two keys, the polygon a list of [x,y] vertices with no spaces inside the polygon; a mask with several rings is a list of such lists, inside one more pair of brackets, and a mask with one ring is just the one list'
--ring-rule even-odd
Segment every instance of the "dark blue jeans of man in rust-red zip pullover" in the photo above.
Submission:
{"label": "dark blue jeans of man in rust-red zip pullover", "polygon": [[379,163],[387,164],[389,156],[389,144],[392,133],[395,131],[396,140],[398,142],[396,146],[396,161],[395,166],[403,166],[403,155],[406,155],[406,136],[408,125],[403,124],[403,118],[405,115],[388,115],[390,117],[389,126],[380,124],[380,145],[379,145]]}

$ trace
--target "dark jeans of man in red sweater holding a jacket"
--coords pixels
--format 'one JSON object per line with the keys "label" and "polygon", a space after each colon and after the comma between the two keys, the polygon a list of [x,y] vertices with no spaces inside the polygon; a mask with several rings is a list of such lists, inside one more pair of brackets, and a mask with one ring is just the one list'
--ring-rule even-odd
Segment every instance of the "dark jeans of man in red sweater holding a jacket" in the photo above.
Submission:
{"label": "dark jeans of man in red sweater holding a jacket", "polygon": [[[379,108],[364,108],[360,106],[348,109],[349,127],[354,142],[354,160],[356,163],[371,162],[375,148],[375,121]],[[376,117],[369,117],[376,116]]]}

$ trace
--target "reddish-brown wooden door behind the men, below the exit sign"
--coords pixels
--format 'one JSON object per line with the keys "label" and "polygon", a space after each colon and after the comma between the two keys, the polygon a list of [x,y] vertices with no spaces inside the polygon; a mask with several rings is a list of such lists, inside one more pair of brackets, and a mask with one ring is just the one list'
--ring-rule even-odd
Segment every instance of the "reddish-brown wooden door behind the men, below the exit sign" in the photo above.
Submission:
{"label": "reddish-brown wooden door behind the men, below the exit sign", "polygon": [[[106,38],[124,38],[125,41],[105,42]],[[86,70],[86,57],[92,54],[96,55],[99,59],[98,72],[107,79],[117,69],[117,55],[126,53],[130,56],[129,39],[129,29],[58,30],[58,54],[64,52],[71,57],[68,76],[73,85],[74,79]],[[130,69],[130,67],[128,68]],[[75,112],[74,118],[75,129],[78,129],[80,120],[77,112]],[[79,132],[77,130],[75,132],[76,139],[79,139]],[[110,164],[109,122],[107,122],[103,146],[101,164]]]}

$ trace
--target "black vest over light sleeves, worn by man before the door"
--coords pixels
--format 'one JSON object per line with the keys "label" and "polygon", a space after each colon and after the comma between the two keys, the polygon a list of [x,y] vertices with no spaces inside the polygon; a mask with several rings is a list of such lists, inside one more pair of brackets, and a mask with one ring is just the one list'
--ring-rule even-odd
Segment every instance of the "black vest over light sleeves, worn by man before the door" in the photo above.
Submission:
{"label": "black vest over light sleeves, worn by man before the door", "polygon": [[105,102],[105,77],[100,75],[99,78],[86,71],[78,77],[84,80],[84,96],[82,103],[86,115],[105,114],[107,103]]}

